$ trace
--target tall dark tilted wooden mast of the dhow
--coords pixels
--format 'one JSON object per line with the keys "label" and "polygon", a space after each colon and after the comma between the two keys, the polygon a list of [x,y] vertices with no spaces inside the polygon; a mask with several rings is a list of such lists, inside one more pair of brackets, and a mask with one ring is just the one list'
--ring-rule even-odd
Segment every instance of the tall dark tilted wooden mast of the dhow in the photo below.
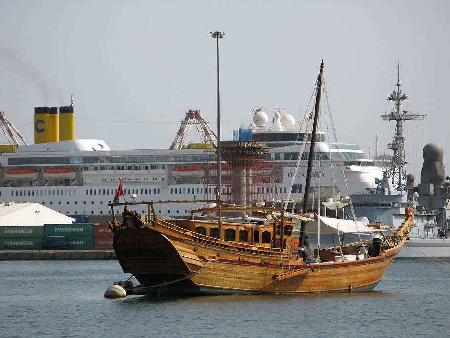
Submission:
{"label": "tall dark tilted wooden mast of the dhow", "polygon": [[[315,98],[315,110],[314,110],[314,120],[313,120],[313,130],[311,132],[311,145],[310,152],[308,157],[308,170],[306,172],[306,183],[305,183],[305,194],[303,196],[303,213],[308,212],[308,200],[309,200],[309,191],[311,185],[311,172],[313,169],[313,158],[314,158],[314,148],[315,148],[315,137],[317,133],[317,121],[319,119],[320,114],[320,98],[322,96],[322,81],[323,81],[323,60],[320,63],[320,73],[317,78],[317,93]],[[306,142],[306,140],[304,141]],[[299,249],[304,253],[303,246],[305,245],[305,227],[306,222],[302,222],[300,227],[300,241],[299,241]]]}

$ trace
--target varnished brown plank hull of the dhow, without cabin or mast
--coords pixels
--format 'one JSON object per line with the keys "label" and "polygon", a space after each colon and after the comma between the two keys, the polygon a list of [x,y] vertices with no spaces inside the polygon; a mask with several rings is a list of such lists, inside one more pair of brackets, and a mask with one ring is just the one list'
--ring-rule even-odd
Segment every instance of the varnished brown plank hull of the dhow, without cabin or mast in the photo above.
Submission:
{"label": "varnished brown plank hull of the dhow, without cabin or mast", "polygon": [[[412,217],[406,222],[411,223]],[[114,249],[124,272],[132,273],[148,293],[370,291],[406,241],[403,236],[399,245],[376,257],[304,264],[291,254],[288,258],[286,250],[249,250],[245,246],[240,248],[238,243],[231,246],[181,230],[153,221],[142,228],[116,232]],[[176,280],[180,281],[166,284]]]}

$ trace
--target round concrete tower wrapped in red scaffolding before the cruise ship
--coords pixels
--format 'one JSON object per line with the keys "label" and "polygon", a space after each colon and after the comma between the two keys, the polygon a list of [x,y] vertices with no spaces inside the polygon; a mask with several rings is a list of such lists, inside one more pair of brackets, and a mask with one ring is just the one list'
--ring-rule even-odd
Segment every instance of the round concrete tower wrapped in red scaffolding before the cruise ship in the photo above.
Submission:
{"label": "round concrete tower wrapped in red scaffolding before the cruise ship", "polygon": [[[263,141],[221,141],[221,196],[225,203],[254,207],[264,202],[271,206],[277,197],[277,177],[281,164],[269,158]],[[216,149],[206,156],[208,168],[206,198],[216,199]],[[209,189],[208,189],[209,188]]]}

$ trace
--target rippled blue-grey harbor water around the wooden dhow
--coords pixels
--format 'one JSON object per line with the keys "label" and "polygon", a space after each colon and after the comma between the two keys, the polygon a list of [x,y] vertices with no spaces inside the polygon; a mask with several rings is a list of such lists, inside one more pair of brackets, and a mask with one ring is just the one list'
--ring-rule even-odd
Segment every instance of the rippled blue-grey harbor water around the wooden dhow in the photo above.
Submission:
{"label": "rippled blue-grey harbor water around the wooden dhow", "polygon": [[[449,264],[450,261],[447,261]],[[450,274],[394,261],[373,292],[104,299],[117,261],[1,261],[0,337],[448,337]]]}

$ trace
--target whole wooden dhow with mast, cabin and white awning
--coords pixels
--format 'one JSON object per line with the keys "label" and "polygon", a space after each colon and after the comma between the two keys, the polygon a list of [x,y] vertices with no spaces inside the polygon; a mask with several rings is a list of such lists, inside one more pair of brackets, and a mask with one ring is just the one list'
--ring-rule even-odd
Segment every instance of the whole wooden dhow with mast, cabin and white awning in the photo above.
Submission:
{"label": "whole wooden dhow with mast, cabin and white awning", "polygon": [[[318,78],[310,159],[314,151],[322,74],[323,62]],[[220,145],[220,140],[218,142]],[[218,167],[219,161],[220,150]],[[311,177],[311,163],[308,170],[307,177]],[[308,201],[308,193],[307,180],[305,201]],[[116,202],[117,198],[114,198]],[[190,210],[190,219],[162,219],[156,207],[162,203],[192,203],[193,206],[200,203],[201,207]],[[131,204],[133,207],[147,205],[147,215],[127,208]],[[148,294],[370,291],[404,245],[413,221],[413,209],[406,208],[403,224],[386,236],[378,224],[367,226],[308,213],[307,202],[305,212],[300,215],[287,214],[283,208],[276,209],[264,203],[254,207],[228,205],[219,197],[212,201],[152,201],[110,206],[113,221],[109,225],[114,233],[117,259],[123,271],[131,273],[141,286],[133,287],[129,281],[121,284],[128,293]],[[124,207],[123,221],[119,222],[115,208],[121,206]],[[302,222],[300,239],[294,239],[299,219]],[[318,232],[319,228],[328,233],[378,231],[380,235],[370,241],[346,245],[339,241],[338,247],[311,251],[305,234]]]}

